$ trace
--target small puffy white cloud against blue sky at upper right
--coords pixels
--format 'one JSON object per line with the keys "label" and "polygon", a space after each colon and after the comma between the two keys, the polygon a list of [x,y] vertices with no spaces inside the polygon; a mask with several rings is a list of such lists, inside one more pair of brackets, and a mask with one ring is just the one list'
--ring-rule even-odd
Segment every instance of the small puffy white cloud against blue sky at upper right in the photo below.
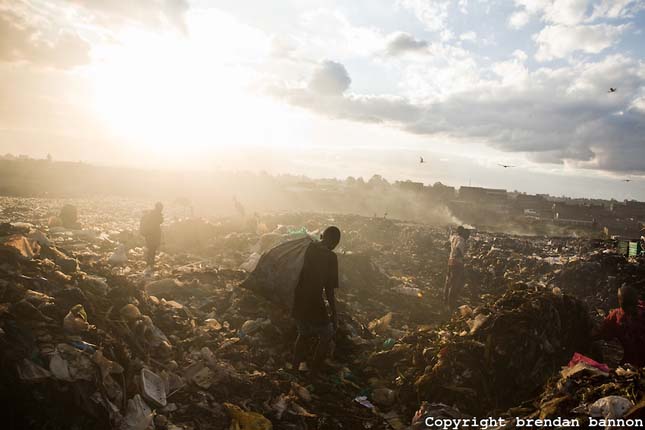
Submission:
{"label": "small puffy white cloud against blue sky at upper right", "polygon": [[618,42],[627,25],[607,24],[548,25],[534,36],[538,45],[535,58],[549,61],[564,58],[576,51],[598,54]]}

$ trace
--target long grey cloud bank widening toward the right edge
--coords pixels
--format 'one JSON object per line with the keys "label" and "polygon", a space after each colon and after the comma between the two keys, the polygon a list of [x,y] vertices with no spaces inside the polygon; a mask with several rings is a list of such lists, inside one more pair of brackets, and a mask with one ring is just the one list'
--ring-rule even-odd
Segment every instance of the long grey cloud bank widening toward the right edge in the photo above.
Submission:
{"label": "long grey cloud bank widening toward the right edge", "polygon": [[[349,77],[326,93],[333,97],[319,97],[311,85],[276,87],[272,93],[328,117],[382,123],[447,142],[485,143],[537,162],[645,173],[645,112],[638,108],[639,88],[645,85],[643,62],[614,55],[530,72],[524,59],[524,53],[516,52],[491,66],[493,78],[426,102],[354,94],[347,91]],[[344,71],[341,65],[335,69]],[[621,88],[608,94],[616,82]]]}

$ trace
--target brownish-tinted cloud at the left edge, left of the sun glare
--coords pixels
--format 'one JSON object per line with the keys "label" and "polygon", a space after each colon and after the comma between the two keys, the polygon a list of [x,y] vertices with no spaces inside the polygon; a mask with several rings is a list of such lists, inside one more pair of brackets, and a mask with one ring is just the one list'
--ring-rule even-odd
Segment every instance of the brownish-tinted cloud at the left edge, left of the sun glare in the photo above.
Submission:
{"label": "brownish-tinted cloud at the left edge, left of the sun glare", "polygon": [[37,28],[11,11],[0,11],[0,61],[63,69],[88,63],[89,51],[72,31]]}

